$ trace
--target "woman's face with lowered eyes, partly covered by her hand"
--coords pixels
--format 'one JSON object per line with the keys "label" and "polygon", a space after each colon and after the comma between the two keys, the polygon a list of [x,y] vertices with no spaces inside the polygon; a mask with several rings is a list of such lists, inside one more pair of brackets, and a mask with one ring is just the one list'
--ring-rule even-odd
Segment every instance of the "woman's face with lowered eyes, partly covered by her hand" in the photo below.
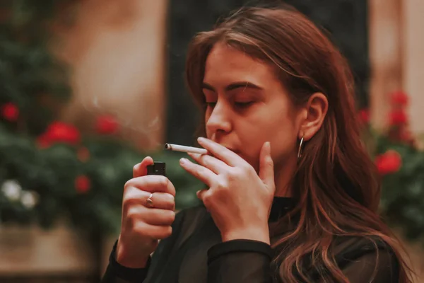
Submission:
{"label": "woman's face with lowered eyes, partly covered by her hand", "polygon": [[265,141],[271,142],[276,166],[295,160],[299,111],[268,64],[216,44],[206,59],[203,92],[209,139],[235,151],[256,170]]}

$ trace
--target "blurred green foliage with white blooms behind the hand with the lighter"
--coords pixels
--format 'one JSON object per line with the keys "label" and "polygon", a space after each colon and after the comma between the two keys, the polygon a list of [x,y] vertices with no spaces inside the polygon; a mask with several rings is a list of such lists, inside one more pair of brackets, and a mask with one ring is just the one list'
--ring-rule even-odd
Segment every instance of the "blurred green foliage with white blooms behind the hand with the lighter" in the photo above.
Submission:
{"label": "blurred green foliage with white blooms behind the hand with the lighter", "polygon": [[[87,140],[88,161],[78,159],[75,146],[55,144],[38,149],[35,140],[7,132],[0,127],[0,184],[16,180],[23,192],[36,192],[37,205],[25,207],[0,193],[0,217],[4,222],[39,223],[45,228],[58,219],[69,219],[78,229],[119,231],[124,184],[132,178],[132,168],[150,154],[167,163],[167,176],[177,188],[177,209],[197,203],[201,183],[179,166],[181,154],[143,154],[117,141]],[[79,175],[90,180],[87,192],[78,192]]]}

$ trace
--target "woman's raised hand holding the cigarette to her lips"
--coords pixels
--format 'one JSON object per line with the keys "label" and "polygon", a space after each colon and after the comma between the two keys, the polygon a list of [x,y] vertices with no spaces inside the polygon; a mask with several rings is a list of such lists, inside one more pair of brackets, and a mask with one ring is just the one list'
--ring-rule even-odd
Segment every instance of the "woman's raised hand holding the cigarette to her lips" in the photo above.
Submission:
{"label": "woman's raised hand holding the cigarette to her lips", "polygon": [[211,213],[223,241],[245,238],[269,243],[268,218],[275,192],[269,142],[261,148],[259,175],[225,146],[204,138],[199,138],[199,144],[211,154],[189,153],[197,164],[187,158],[181,158],[180,164],[208,186],[197,196]]}

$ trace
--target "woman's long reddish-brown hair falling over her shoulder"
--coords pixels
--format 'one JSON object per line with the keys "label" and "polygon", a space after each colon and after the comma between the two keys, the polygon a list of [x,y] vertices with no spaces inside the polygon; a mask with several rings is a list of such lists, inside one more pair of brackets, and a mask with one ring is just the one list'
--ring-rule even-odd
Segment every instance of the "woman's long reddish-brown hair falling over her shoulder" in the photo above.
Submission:
{"label": "woman's long reddish-brown hair falling over her shoulder", "polygon": [[[399,262],[399,282],[410,282],[401,244],[377,214],[379,180],[360,141],[353,76],[341,53],[290,6],[241,8],[213,30],[196,35],[189,45],[187,85],[203,110],[206,58],[217,42],[273,66],[295,105],[302,105],[317,92],[329,100],[324,124],[305,144],[293,178],[299,201],[286,217],[298,215],[297,227],[273,243],[274,248],[288,246],[273,260],[281,262],[276,274],[283,282],[308,281],[300,266],[310,255],[326,267],[322,276],[348,282],[336,264],[331,244],[336,236],[360,236],[387,243]],[[204,132],[204,124],[201,130]],[[286,220],[281,219],[279,226],[285,226]]]}

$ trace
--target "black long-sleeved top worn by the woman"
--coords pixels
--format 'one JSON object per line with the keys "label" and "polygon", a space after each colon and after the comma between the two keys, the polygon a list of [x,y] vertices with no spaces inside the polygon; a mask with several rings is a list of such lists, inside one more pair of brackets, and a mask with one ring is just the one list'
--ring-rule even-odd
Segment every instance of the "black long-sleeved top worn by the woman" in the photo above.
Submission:
{"label": "black long-sleeved top worn by the woman", "polygon": [[[274,197],[269,221],[276,221],[294,205],[287,197]],[[271,237],[271,243],[278,240]],[[128,268],[115,260],[116,243],[102,283],[268,283],[273,282],[273,250],[252,240],[222,242],[220,231],[203,206],[177,213],[172,236],[160,241],[146,268]],[[351,283],[398,282],[396,257],[383,243],[375,246],[364,238],[346,238],[338,244],[336,262]],[[312,282],[324,282],[310,270]],[[280,281],[278,281],[280,282]],[[299,282],[302,280],[299,279]],[[328,281],[326,281],[328,282]]]}

